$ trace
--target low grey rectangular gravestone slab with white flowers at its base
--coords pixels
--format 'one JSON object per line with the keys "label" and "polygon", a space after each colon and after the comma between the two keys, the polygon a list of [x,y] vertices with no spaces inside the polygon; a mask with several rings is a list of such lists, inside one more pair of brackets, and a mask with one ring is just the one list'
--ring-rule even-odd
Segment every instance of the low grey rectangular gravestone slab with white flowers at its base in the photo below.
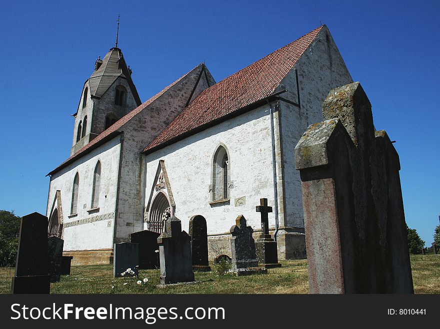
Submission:
{"label": "low grey rectangular gravestone slab with white flowers at its base", "polygon": [[138,267],[139,245],[137,243],[113,244],[113,277],[137,276],[139,274]]}

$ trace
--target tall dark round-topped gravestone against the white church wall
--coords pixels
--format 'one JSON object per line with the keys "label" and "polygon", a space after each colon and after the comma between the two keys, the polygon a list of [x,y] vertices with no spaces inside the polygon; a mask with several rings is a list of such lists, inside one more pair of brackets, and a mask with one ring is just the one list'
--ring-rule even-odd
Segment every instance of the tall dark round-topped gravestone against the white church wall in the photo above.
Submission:
{"label": "tall dark round-topped gravestone against the white church wall", "polygon": [[199,272],[210,271],[206,219],[203,216],[196,215],[189,219],[189,236],[191,237],[192,269]]}

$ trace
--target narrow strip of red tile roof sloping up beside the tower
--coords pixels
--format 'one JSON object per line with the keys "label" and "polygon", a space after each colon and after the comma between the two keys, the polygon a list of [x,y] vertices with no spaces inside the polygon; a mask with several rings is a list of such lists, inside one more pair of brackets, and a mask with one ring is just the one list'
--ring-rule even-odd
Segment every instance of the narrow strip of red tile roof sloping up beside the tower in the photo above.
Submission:
{"label": "narrow strip of red tile roof sloping up beside the tower", "polygon": [[120,118],[118,121],[116,121],[113,125],[111,125],[110,127],[108,127],[106,130],[104,130],[102,133],[100,133],[99,135],[97,135],[94,139],[92,139],[89,143],[85,144],[83,147],[81,147],[78,151],[76,151],[75,153],[73,153],[73,155],[71,155],[67,160],[65,160],[63,163],[61,163],[58,167],[56,167],[55,169],[53,169],[51,172],[49,172],[47,175],[51,175],[55,172],[57,172],[58,170],[62,169],[63,167],[65,167],[66,165],[68,165],[69,163],[71,163],[73,160],[75,160],[76,158],[78,158],[79,156],[82,155],[83,152],[85,152],[86,150],[90,149],[93,145],[97,144],[98,142],[104,140],[106,137],[109,137],[109,135],[112,135],[113,133],[115,133],[119,128],[121,128],[125,123],[127,123],[131,118],[133,118],[136,114],[138,114],[140,111],[142,111],[144,108],[146,108],[148,105],[150,105],[154,100],[156,100],[157,98],[159,98],[161,95],[163,95],[168,89],[170,89],[172,86],[174,86],[176,83],[178,83],[180,80],[182,80],[185,76],[187,76],[189,73],[191,73],[192,71],[194,71],[195,69],[197,69],[200,66],[203,66],[204,64],[199,64],[197,65],[195,68],[193,68],[191,71],[189,71],[188,73],[184,74],[183,76],[181,76],[180,78],[178,78],[176,81],[174,81],[172,84],[170,84],[169,86],[163,88],[160,92],[158,92],[156,95],[154,95],[153,97],[151,97],[149,100],[147,100],[146,102],[140,104],[138,107],[136,107],[135,109],[131,110],[130,112],[128,112],[125,116],[123,116],[122,118]]}

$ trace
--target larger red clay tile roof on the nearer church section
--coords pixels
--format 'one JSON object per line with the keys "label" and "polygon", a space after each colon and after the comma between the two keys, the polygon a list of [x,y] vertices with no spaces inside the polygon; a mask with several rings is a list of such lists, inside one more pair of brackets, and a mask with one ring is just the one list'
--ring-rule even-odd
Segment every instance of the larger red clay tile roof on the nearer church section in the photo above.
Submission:
{"label": "larger red clay tile roof on the nearer church section", "polygon": [[201,92],[144,151],[270,96],[321,29],[322,26]]}

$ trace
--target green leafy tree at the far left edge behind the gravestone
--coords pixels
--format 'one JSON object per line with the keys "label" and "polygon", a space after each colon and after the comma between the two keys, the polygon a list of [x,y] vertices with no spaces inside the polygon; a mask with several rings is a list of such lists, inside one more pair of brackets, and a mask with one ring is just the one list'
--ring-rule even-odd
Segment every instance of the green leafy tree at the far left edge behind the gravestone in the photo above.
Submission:
{"label": "green leafy tree at the far left edge behind the gravestone", "polygon": [[0,266],[15,266],[20,218],[13,211],[0,210]]}

